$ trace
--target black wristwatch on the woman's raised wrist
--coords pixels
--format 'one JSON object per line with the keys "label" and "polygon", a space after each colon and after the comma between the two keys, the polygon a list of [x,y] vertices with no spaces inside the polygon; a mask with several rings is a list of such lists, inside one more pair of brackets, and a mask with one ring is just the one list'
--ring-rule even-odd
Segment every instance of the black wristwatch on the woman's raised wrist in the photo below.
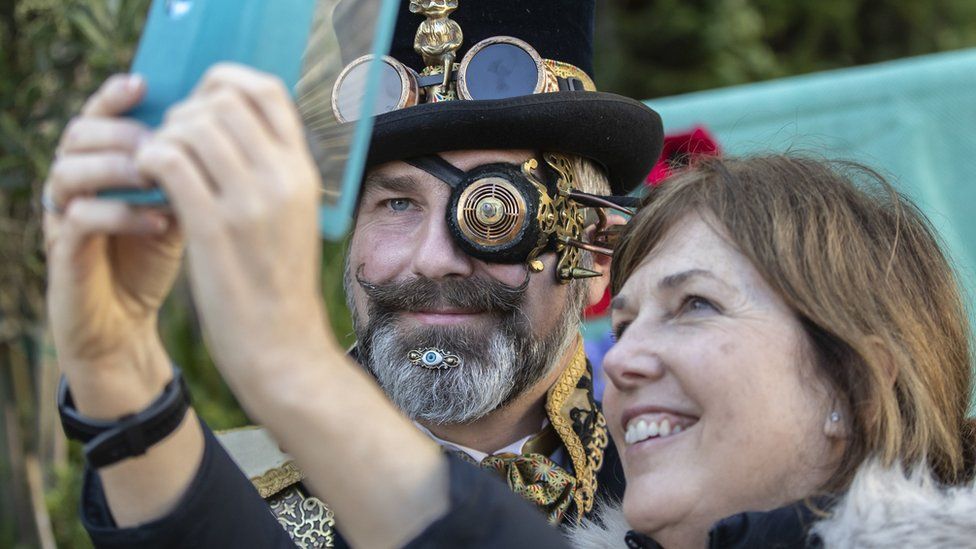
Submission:
{"label": "black wristwatch on the woman's raised wrist", "polygon": [[163,393],[145,410],[118,420],[85,417],[75,409],[67,380],[58,387],[58,411],[68,438],[85,443],[85,459],[98,469],[146,453],[179,427],[190,407],[190,391],[179,368]]}

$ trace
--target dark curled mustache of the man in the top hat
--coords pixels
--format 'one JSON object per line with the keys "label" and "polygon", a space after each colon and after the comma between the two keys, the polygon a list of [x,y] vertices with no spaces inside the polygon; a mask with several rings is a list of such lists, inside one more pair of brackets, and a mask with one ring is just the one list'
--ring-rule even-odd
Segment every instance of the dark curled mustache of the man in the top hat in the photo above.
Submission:
{"label": "dark curled mustache of the man in the top hat", "polygon": [[458,278],[434,281],[417,277],[403,282],[370,282],[356,269],[356,282],[379,311],[426,311],[436,307],[457,307],[473,312],[514,311],[525,298],[529,273],[518,286],[492,278]]}

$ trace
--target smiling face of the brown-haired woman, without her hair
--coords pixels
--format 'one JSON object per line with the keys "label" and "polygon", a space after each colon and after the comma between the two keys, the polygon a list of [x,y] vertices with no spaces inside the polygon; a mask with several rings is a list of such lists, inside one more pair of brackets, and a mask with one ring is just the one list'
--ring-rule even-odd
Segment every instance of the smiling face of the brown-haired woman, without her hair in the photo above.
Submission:
{"label": "smiling face of the brown-haired woman, without her hair", "polygon": [[837,399],[801,322],[714,216],[679,219],[612,305],[604,405],[633,527],[701,547],[717,520],[825,484],[845,446],[825,420]]}

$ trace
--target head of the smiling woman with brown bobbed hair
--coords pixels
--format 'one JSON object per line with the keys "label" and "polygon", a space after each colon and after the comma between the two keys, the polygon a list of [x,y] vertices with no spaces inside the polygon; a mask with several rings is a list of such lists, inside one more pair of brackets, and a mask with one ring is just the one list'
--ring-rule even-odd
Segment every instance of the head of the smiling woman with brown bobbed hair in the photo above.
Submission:
{"label": "head of the smiling woman with brown bobbed hair", "polygon": [[971,477],[958,286],[869,169],[704,160],[650,192],[614,263],[604,404],[631,546],[802,544],[872,460]]}

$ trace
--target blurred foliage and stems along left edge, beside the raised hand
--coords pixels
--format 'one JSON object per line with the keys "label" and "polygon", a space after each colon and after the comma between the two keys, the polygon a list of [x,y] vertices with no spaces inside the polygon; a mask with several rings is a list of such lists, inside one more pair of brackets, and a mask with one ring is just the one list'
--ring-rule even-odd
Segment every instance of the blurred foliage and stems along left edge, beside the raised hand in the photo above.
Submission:
{"label": "blurred foliage and stems along left edge, beside the raised hand", "polygon": [[[124,70],[149,0],[0,0],[0,545],[84,546],[55,528],[45,492],[65,467],[44,338],[44,251],[35,197],[72,113]],[[76,499],[76,494],[72,498]],[[76,504],[75,504],[76,505]],[[72,511],[72,520],[77,522]]]}

